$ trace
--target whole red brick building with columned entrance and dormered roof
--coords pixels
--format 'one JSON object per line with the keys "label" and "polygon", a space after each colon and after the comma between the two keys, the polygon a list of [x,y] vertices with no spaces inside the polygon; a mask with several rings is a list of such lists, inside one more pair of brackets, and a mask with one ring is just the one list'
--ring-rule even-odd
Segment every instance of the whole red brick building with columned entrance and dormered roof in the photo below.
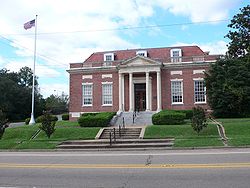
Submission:
{"label": "whole red brick building with columned entrance and dormered roof", "polygon": [[218,57],[198,46],[93,53],[70,64],[70,119],[85,112],[208,108],[204,71]]}

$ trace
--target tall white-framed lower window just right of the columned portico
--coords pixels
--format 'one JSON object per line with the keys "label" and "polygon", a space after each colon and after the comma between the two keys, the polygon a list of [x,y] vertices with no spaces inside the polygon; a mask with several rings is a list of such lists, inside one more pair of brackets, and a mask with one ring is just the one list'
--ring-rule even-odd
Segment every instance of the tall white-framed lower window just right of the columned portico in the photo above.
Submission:
{"label": "tall white-framed lower window just right of the columned portico", "polygon": [[182,81],[171,81],[172,104],[183,104]]}

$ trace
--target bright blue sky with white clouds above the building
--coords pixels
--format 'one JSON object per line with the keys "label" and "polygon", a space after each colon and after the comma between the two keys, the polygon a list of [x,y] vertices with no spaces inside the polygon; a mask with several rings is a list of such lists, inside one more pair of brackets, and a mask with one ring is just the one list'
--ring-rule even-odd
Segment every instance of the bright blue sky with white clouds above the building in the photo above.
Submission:
{"label": "bright blue sky with white clouds above the building", "polygon": [[[6,0],[0,7],[0,69],[33,67],[44,97],[68,94],[66,70],[96,51],[199,45],[224,54],[227,25],[248,0]],[[154,26],[154,27],[151,27]],[[130,28],[130,29],[129,29]]]}

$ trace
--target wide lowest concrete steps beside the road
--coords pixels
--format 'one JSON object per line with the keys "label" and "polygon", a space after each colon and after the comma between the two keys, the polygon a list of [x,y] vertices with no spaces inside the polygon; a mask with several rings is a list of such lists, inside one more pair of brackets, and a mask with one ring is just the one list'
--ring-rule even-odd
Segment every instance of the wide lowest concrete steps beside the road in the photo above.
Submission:
{"label": "wide lowest concrete steps beside the road", "polygon": [[57,149],[167,149],[173,146],[173,139],[117,139],[110,145],[108,139],[65,141]]}

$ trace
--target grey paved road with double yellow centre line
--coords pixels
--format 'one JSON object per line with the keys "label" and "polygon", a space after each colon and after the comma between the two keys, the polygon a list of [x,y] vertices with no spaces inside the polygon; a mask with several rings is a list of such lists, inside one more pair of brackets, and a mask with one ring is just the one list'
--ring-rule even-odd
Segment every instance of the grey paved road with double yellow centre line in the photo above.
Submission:
{"label": "grey paved road with double yellow centre line", "polygon": [[250,149],[0,152],[0,187],[249,186]]}

